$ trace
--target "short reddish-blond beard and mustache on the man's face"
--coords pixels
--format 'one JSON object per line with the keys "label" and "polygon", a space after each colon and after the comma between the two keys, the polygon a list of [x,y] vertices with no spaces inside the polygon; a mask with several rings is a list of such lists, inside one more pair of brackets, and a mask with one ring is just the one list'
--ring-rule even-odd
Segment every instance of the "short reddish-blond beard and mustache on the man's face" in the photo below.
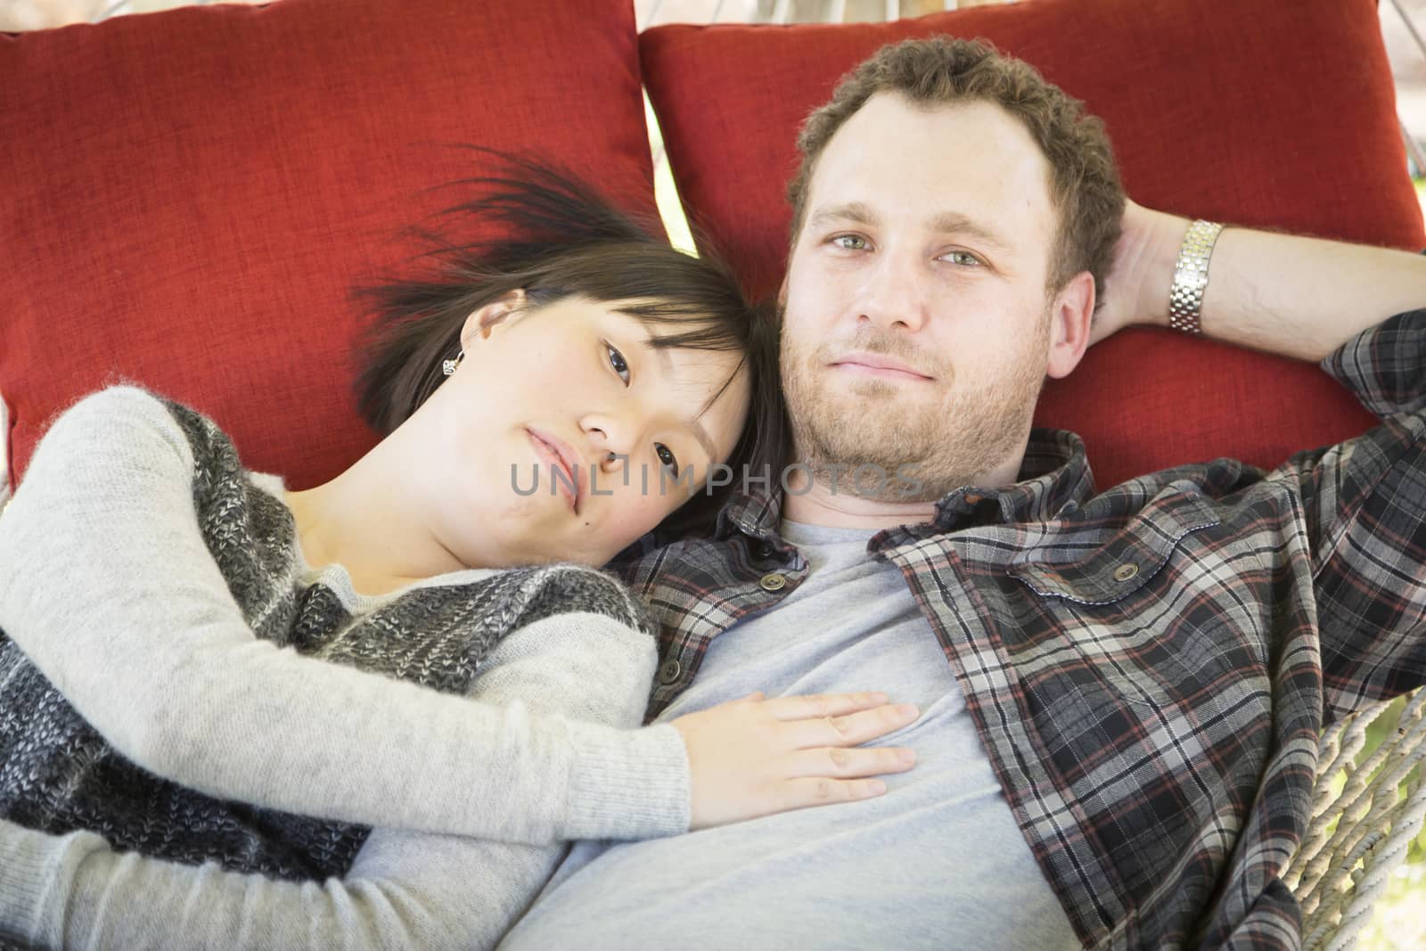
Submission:
{"label": "short reddish-blond beard and mustache on the man's face", "polygon": [[[863,327],[851,339],[811,352],[797,349],[784,332],[781,378],[797,462],[837,493],[886,502],[934,502],[953,489],[981,485],[992,469],[1024,453],[1045,379],[1048,332],[1047,309],[1032,339],[1007,341],[1017,359],[1005,374],[975,389],[960,382],[950,355],[928,354],[880,328]],[[915,384],[837,379],[827,364],[851,351],[906,361],[935,378],[941,399],[901,399]]]}

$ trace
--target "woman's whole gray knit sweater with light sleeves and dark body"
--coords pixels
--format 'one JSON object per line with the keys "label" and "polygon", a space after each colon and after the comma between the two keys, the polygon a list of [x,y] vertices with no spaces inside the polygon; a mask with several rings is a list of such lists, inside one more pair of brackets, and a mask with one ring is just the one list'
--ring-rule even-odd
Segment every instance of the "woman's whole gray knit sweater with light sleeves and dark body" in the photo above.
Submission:
{"label": "woman's whole gray knit sweater with light sleeves and dark body", "polygon": [[[456,934],[481,947],[533,897],[555,837],[686,828],[676,733],[597,723],[637,724],[653,667],[639,609],[610,579],[459,572],[362,597],[342,569],[302,562],[281,499],[212,423],[135,389],[81,402],[41,443],[0,522],[0,627],[14,642],[0,647],[0,803],[27,826],[104,838],[6,824],[0,934],[40,947]],[[73,566],[63,586],[54,563]],[[408,831],[365,840],[351,823]],[[117,855],[104,840],[348,878],[281,883]],[[392,894],[421,895],[425,917]]]}

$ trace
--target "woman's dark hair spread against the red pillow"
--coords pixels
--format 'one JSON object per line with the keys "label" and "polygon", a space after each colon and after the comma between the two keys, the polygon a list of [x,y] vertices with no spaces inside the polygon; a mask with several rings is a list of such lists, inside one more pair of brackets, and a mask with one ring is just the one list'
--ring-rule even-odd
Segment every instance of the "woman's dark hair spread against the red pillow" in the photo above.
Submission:
{"label": "woman's dark hair spread against the red pillow", "polygon": [[[744,472],[776,478],[790,433],[777,374],[776,308],[749,305],[719,258],[674,250],[660,225],[642,224],[573,174],[472,148],[498,158],[502,174],[455,183],[475,195],[446,210],[455,225],[419,232],[429,247],[418,258],[422,274],[358,291],[375,318],[362,341],[355,384],[366,422],[382,433],[405,422],[445,379],[441,364],[461,351],[471,314],[512,291],[523,289],[533,308],[572,297],[617,301],[622,312],[662,325],[655,346],[743,355],[739,369],[747,372],[752,409],[727,463],[736,473],[729,488],[740,488]],[[451,235],[466,220],[482,234],[493,222],[498,234],[453,241]],[[717,395],[732,382],[733,376]],[[662,528],[693,528],[722,499],[700,492]]]}

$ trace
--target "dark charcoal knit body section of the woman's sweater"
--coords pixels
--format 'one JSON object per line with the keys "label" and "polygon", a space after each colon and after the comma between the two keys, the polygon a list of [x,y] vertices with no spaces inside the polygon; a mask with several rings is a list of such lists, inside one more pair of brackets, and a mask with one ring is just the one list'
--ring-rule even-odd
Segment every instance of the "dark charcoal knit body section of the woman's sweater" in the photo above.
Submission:
{"label": "dark charcoal knit body section of the woman's sweater", "polygon": [[[352,616],[332,589],[304,583],[291,512],[252,485],[232,442],[207,418],[165,405],[193,448],[204,540],[244,619],[262,639],[463,693],[493,644],[540,617],[597,612],[649,630],[642,606],[620,585],[579,566],[418,586]],[[272,729],[281,731],[282,724]],[[230,870],[289,880],[344,874],[369,833],[365,826],[217,800],[134,766],[3,632],[0,816],[48,833],[96,831],[124,851],[190,864],[215,860]]]}

